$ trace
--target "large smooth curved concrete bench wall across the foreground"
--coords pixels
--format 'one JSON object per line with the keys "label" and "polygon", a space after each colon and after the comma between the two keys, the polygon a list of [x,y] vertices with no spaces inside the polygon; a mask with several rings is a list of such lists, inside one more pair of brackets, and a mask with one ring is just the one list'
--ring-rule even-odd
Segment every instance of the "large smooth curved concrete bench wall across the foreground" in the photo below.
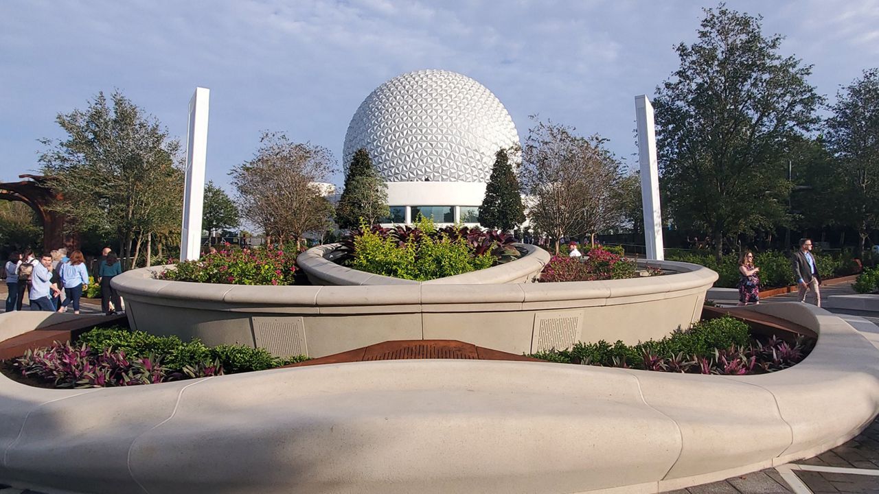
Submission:
{"label": "large smooth curved concrete bench wall across the foreground", "polygon": [[[879,351],[823,309],[774,374],[472,360],[276,369],[132,388],[0,376],[0,483],[45,492],[657,492],[821,453],[879,410]],[[40,313],[37,313],[41,316]],[[0,338],[37,322],[0,316]]]}

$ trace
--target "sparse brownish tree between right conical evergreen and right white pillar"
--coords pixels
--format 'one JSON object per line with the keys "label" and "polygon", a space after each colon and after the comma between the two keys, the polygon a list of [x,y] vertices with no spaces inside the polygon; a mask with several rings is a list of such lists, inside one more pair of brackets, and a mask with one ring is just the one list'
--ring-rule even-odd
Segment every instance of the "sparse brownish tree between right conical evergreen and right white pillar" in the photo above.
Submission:
{"label": "sparse brownish tree between right conical evergreen and right white pillar", "polygon": [[[555,239],[556,254],[563,236],[607,229],[614,226],[612,217],[621,221],[621,202],[610,197],[617,197],[619,164],[598,135],[585,138],[574,131],[537,122],[528,133],[519,170],[528,218],[534,229]],[[599,199],[592,201],[593,196]]]}

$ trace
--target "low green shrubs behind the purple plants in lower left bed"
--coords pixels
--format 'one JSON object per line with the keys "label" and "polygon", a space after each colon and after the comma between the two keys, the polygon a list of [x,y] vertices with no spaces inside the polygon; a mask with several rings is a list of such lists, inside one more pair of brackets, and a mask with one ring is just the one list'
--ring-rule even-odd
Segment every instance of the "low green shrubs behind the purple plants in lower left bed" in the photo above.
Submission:
{"label": "low green shrubs behind the purple plants in lower left bed", "polygon": [[211,348],[198,338],[183,341],[176,336],[156,336],[143,331],[128,331],[119,326],[94,328],[80,335],[77,342],[79,345],[89,345],[92,349],[112,348],[114,351],[123,351],[129,357],[161,357],[162,365],[174,370],[218,360],[223,371],[231,374],[308,360],[302,355],[278,358],[263,348],[244,345],[218,345]]}

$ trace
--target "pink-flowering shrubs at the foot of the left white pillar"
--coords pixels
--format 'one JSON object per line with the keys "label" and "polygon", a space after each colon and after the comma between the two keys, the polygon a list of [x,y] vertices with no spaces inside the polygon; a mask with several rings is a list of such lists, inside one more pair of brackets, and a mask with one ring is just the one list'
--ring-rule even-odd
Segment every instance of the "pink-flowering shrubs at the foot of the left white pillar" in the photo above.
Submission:
{"label": "pink-flowering shrubs at the foot of the left white pillar", "polygon": [[298,255],[294,244],[245,251],[227,243],[198,260],[169,263],[173,268],[156,278],[225,285],[293,285]]}

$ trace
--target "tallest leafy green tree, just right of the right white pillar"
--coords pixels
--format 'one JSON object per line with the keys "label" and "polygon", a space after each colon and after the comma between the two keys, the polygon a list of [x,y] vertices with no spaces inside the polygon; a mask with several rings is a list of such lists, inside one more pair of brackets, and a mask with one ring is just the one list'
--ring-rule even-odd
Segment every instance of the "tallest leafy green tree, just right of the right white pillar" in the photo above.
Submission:
{"label": "tallest leafy green tree, just right of the right white pillar", "polygon": [[654,101],[665,205],[679,227],[713,236],[718,259],[724,237],[787,221],[783,151],[817,123],[821,102],[811,66],[782,58],[781,36],[764,36],[760,20],[706,9]]}

